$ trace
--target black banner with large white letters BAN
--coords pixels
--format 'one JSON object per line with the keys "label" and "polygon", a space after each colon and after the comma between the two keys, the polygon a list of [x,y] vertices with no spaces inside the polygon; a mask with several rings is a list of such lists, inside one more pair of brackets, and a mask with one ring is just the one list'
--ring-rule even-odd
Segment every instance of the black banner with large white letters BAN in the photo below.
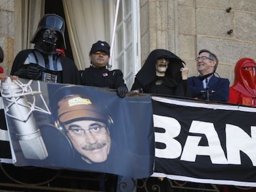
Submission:
{"label": "black banner with large white letters BAN", "polygon": [[256,108],[152,97],[153,177],[256,186]]}

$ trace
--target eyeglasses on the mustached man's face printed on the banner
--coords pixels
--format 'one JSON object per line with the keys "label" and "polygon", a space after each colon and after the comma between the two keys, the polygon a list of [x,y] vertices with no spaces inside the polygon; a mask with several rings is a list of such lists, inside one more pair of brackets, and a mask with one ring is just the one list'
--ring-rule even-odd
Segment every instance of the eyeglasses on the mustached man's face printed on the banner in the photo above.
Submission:
{"label": "eyeglasses on the mustached man's face printed on the banner", "polygon": [[85,131],[89,131],[92,135],[98,136],[106,133],[105,125],[93,125],[90,128],[83,129],[78,127],[69,127],[68,130],[71,136],[83,136]]}

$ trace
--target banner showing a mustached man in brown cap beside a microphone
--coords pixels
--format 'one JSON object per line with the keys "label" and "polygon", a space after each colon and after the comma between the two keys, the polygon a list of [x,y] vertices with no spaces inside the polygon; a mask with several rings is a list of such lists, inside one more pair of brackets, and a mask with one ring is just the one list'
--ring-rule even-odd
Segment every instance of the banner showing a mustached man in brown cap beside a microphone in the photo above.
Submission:
{"label": "banner showing a mustached man in brown cap beside a microphone", "polygon": [[149,94],[34,80],[2,81],[16,166],[87,170],[145,178],[153,173]]}

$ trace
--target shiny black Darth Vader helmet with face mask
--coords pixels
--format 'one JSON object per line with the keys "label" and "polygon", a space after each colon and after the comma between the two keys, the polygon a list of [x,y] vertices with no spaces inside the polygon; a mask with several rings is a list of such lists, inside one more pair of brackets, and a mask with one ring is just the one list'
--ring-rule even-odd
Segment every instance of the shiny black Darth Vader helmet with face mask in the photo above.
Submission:
{"label": "shiny black Darth Vader helmet with face mask", "polygon": [[56,14],[45,14],[41,17],[37,30],[30,43],[36,43],[37,40],[43,40],[46,43],[54,44],[57,49],[66,49],[65,22],[61,16]]}

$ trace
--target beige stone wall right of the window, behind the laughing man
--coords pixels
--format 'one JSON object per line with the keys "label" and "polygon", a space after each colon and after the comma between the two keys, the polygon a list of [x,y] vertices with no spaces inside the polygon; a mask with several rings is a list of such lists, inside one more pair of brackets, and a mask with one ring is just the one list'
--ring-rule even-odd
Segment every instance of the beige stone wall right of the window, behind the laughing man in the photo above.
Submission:
{"label": "beige stone wall right of the window, behind the laughing man", "polygon": [[220,60],[216,72],[232,85],[236,62],[256,60],[255,0],[140,0],[140,23],[142,63],[153,49],[168,49],[198,75],[194,59],[209,49]]}

